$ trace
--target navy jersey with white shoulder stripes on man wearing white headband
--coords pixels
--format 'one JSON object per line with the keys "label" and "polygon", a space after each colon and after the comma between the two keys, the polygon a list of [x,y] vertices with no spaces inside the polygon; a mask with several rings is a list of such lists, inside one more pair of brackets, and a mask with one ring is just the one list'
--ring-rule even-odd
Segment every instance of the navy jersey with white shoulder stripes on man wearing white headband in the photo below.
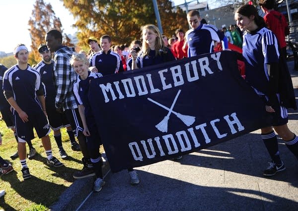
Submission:
{"label": "navy jersey with white shoulder stripes on man wearing white headband", "polygon": [[4,73],[3,90],[12,92],[17,105],[25,112],[41,109],[36,96],[40,88],[40,74],[29,65],[25,70],[14,65]]}

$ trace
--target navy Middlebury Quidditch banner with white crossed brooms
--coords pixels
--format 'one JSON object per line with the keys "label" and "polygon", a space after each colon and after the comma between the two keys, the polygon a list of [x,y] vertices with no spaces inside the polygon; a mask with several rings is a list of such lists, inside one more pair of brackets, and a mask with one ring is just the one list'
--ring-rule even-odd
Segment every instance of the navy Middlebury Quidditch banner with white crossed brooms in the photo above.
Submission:
{"label": "navy Middlebury Quidditch banner with white crossed brooms", "polygon": [[271,124],[230,51],[97,78],[88,98],[113,172],[189,154]]}

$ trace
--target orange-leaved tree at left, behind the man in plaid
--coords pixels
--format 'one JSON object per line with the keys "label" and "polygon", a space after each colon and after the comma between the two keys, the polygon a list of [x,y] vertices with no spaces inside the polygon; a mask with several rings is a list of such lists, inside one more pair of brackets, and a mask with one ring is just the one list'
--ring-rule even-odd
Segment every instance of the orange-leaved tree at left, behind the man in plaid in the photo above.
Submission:
{"label": "orange-leaved tree at left, behind the man in plaid", "polygon": [[[31,36],[31,50],[29,55],[29,63],[31,65],[40,61],[38,46],[45,43],[45,35],[51,29],[57,29],[63,33],[62,23],[59,17],[56,17],[52,5],[45,3],[43,0],[36,0],[32,10],[32,16],[29,19],[28,25]],[[63,34],[64,45],[73,46],[70,38]]]}

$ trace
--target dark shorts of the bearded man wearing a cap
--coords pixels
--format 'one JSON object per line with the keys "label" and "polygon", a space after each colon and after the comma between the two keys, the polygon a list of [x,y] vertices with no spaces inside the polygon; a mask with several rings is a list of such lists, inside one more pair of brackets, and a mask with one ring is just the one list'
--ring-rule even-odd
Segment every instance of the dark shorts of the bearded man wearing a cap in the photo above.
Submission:
{"label": "dark shorts of the bearded man wearing a cap", "polygon": [[48,115],[49,125],[53,130],[59,130],[62,127],[71,126],[64,113],[59,113],[55,107],[55,99],[46,101],[46,111]]}

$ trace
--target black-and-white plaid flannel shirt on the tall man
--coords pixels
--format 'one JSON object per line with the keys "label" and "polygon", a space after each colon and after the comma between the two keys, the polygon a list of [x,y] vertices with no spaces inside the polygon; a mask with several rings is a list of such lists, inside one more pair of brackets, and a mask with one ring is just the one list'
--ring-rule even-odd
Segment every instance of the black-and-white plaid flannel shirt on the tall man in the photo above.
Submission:
{"label": "black-and-white plaid flannel shirt on the tall man", "polygon": [[63,46],[54,54],[55,106],[63,111],[77,108],[73,92],[76,76],[70,63],[73,53],[72,48]]}

